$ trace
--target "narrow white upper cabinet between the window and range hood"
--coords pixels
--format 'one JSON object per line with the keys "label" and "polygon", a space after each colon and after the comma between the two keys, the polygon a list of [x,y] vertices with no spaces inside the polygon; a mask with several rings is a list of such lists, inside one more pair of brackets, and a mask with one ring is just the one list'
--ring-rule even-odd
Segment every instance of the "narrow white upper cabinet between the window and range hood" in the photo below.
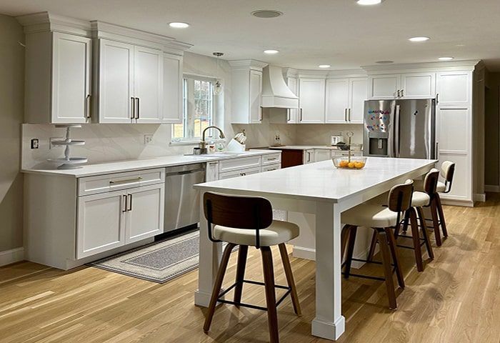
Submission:
{"label": "narrow white upper cabinet between the window and range hood", "polygon": [[231,66],[231,124],[261,124],[262,69],[251,59],[229,61]]}

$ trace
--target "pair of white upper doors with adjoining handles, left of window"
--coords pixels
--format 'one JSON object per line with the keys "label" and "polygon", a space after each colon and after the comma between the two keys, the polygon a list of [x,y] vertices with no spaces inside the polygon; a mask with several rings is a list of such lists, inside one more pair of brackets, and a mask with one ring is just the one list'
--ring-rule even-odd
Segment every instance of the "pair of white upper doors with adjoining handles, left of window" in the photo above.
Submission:
{"label": "pair of white upper doors with adjoining handles, left of window", "polygon": [[159,49],[99,39],[95,75],[99,122],[161,123],[163,66]]}

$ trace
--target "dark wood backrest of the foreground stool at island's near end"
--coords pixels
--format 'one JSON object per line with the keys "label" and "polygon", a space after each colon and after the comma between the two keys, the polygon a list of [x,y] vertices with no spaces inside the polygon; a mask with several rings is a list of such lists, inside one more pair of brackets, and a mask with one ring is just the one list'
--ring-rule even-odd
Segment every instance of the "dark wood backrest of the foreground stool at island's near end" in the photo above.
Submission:
{"label": "dark wood backrest of the foreground stool at island's near end", "polygon": [[205,218],[210,224],[236,229],[265,229],[273,222],[271,203],[262,197],[206,192],[203,202]]}

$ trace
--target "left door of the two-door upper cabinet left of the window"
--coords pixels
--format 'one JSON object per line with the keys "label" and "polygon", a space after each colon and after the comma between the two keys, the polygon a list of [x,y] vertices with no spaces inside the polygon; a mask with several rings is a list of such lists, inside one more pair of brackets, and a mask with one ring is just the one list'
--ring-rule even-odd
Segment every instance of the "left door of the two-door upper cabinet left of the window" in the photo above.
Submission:
{"label": "left door of the two-door upper cabinet left of the window", "polygon": [[99,122],[131,123],[134,46],[99,41]]}

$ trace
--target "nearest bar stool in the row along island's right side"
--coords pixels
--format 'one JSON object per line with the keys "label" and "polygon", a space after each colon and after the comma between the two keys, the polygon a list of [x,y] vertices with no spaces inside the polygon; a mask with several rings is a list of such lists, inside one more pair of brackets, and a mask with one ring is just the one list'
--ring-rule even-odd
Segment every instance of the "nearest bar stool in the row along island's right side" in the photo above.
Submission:
{"label": "nearest bar stool in the row along island's right side", "polygon": [[[412,193],[413,181],[408,180],[405,184],[399,184],[392,187],[387,198],[387,207],[382,207],[377,204],[361,204],[341,214],[341,222],[346,224],[343,229],[343,236],[346,237],[347,234],[349,234],[346,262],[344,263],[344,273],[342,273],[344,274],[344,278],[349,279],[349,276],[353,276],[385,281],[390,309],[396,309],[397,307],[393,272],[396,272],[399,287],[404,289],[404,277],[399,264],[393,229],[401,223],[401,214],[410,208]],[[352,257],[358,227],[371,227],[374,229],[376,240],[379,242],[380,246],[382,262],[373,262],[367,259],[354,259]],[[391,257],[394,262],[394,270],[392,269],[393,264],[391,264]],[[351,274],[352,261],[381,264],[384,267],[385,277]]]}

